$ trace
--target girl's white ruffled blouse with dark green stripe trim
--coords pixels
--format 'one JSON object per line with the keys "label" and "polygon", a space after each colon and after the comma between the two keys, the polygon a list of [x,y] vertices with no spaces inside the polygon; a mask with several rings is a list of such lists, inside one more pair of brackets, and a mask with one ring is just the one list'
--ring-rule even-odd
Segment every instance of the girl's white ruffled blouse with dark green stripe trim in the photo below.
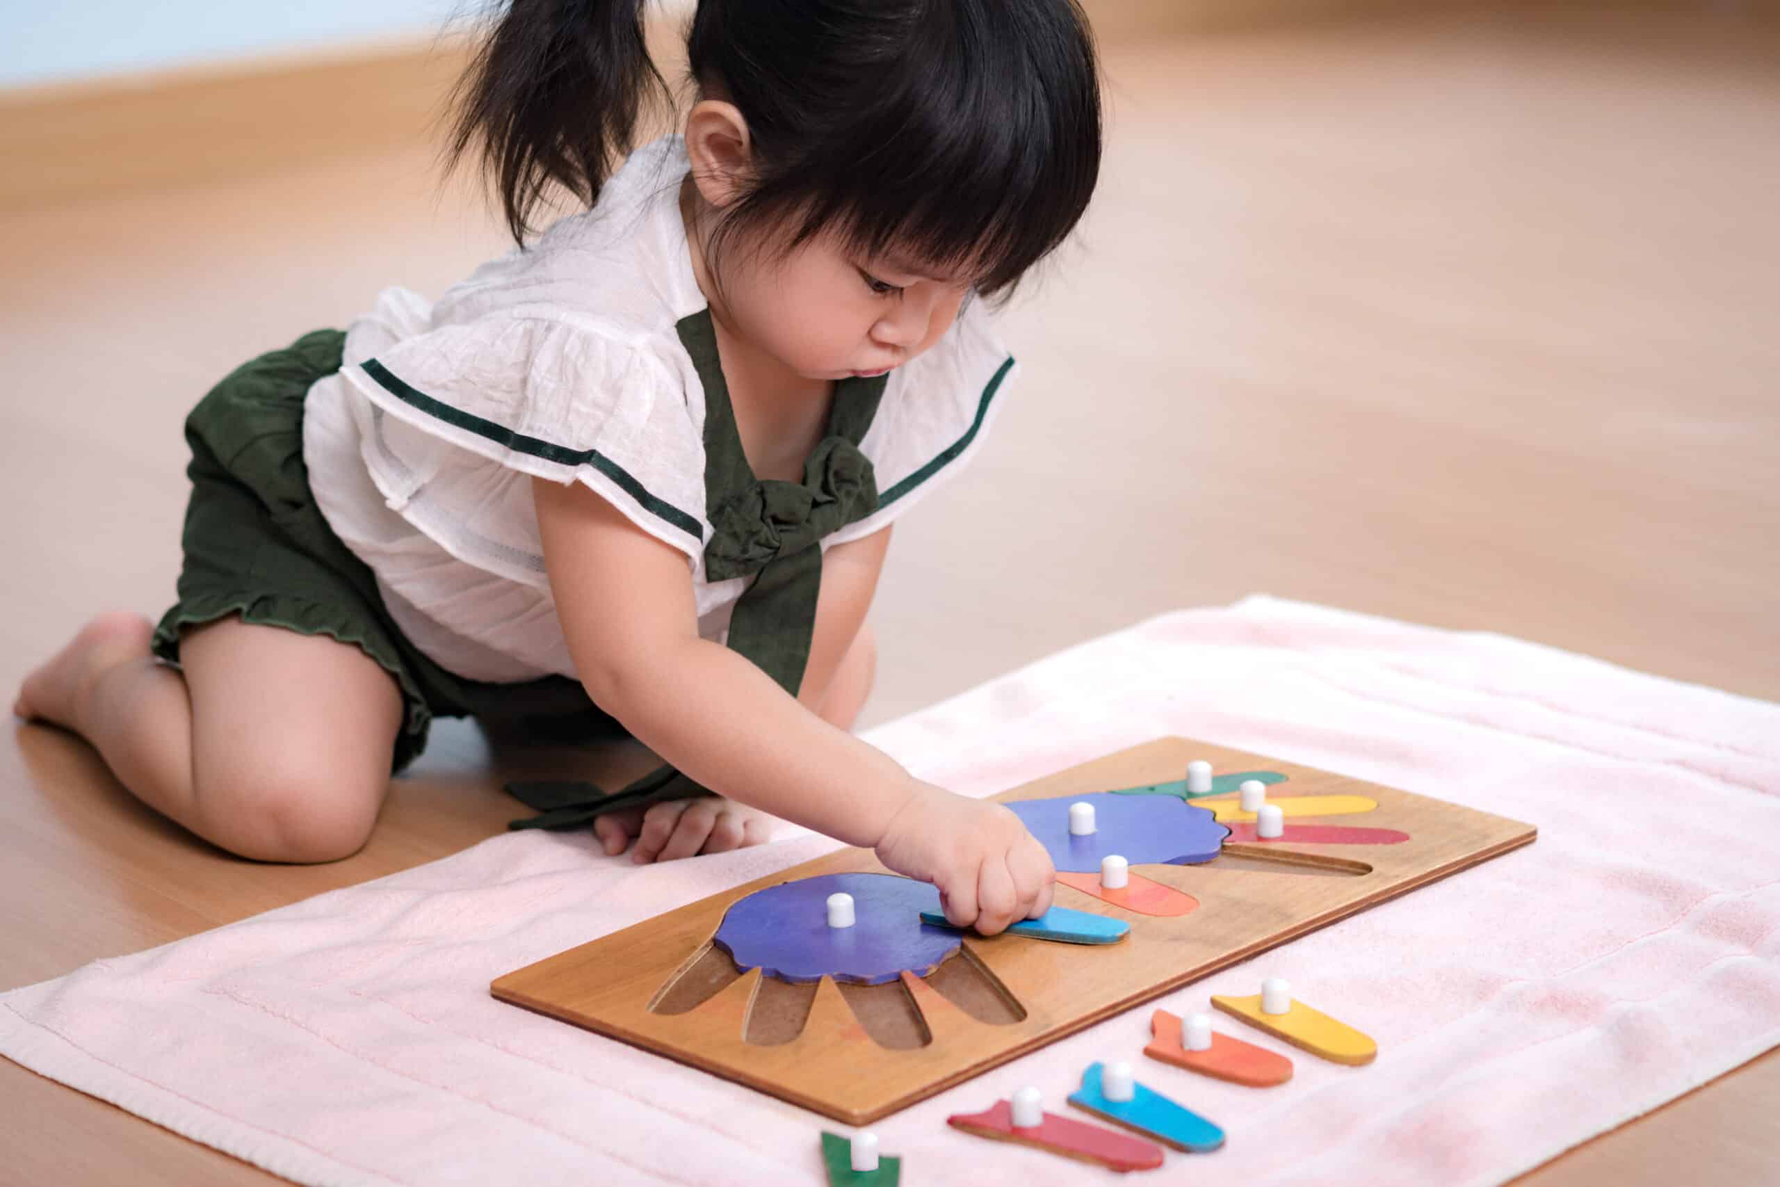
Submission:
{"label": "girl's white ruffled blouse with dark green stripe trim", "polygon": [[[303,457],[335,534],[441,667],[575,678],[530,477],[582,482],[682,550],[700,634],[723,641],[748,577],[705,578],[705,390],[678,324],[707,301],[680,221],[680,137],[632,153],[593,210],[479,267],[436,304],[388,288],[308,393]],[[981,447],[1016,374],[979,303],[890,372],[860,450],[888,525]]]}

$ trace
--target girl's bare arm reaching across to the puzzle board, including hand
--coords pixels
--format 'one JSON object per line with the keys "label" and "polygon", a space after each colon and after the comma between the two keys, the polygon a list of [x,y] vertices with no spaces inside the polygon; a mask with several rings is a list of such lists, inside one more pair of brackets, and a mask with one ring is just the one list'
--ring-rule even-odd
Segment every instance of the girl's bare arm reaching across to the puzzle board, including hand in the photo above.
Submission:
{"label": "girl's bare arm reaching across to the puzzle board, including hand", "polygon": [[[732,799],[878,849],[890,868],[933,881],[954,924],[995,933],[1050,906],[1050,858],[1018,817],[920,783],[700,639],[685,557],[603,498],[543,480],[532,491],[580,680],[643,744]],[[846,642],[826,650],[812,662],[831,674]]]}

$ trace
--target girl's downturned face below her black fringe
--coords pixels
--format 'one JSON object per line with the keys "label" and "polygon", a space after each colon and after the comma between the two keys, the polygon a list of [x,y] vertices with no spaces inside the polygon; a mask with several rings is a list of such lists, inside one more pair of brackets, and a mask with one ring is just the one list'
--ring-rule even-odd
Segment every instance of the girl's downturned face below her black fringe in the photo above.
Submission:
{"label": "girl's downturned face below her black fringe", "polygon": [[730,322],[805,379],[876,375],[938,342],[970,281],[918,263],[858,260],[819,235],[790,254],[760,253],[724,279]]}

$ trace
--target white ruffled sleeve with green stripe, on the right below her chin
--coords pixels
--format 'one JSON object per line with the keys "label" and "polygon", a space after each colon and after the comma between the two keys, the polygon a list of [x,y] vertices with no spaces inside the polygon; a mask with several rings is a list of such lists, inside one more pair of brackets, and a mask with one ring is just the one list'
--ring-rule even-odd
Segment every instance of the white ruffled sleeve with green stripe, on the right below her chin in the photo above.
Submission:
{"label": "white ruffled sleeve with green stripe, on the right below her chin", "polygon": [[963,472],[1016,377],[988,310],[972,301],[940,342],[890,374],[860,441],[878,473],[878,511],[828,543],[870,536]]}

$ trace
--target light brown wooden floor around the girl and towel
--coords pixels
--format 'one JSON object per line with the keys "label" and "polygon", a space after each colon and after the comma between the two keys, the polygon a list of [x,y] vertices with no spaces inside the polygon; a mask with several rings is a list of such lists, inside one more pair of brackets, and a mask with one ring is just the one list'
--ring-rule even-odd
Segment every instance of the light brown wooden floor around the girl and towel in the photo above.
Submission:
{"label": "light brown wooden floor around the girl and towel", "polygon": [[[869,721],[1250,591],[1780,698],[1780,27],[1691,7],[1109,46],[1095,212],[1011,313],[993,441],[897,532]],[[500,246],[431,164],[417,130],[0,210],[0,685],[169,600],[210,381]],[[272,868],[14,724],[0,988],[454,852],[514,815],[497,767],[543,762],[449,728],[368,849]],[[4,1061],[0,1112],[4,1182],[265,1178]],[[1776,1114],[1769,1055],[1525,1182],[1766,1182]]]}

